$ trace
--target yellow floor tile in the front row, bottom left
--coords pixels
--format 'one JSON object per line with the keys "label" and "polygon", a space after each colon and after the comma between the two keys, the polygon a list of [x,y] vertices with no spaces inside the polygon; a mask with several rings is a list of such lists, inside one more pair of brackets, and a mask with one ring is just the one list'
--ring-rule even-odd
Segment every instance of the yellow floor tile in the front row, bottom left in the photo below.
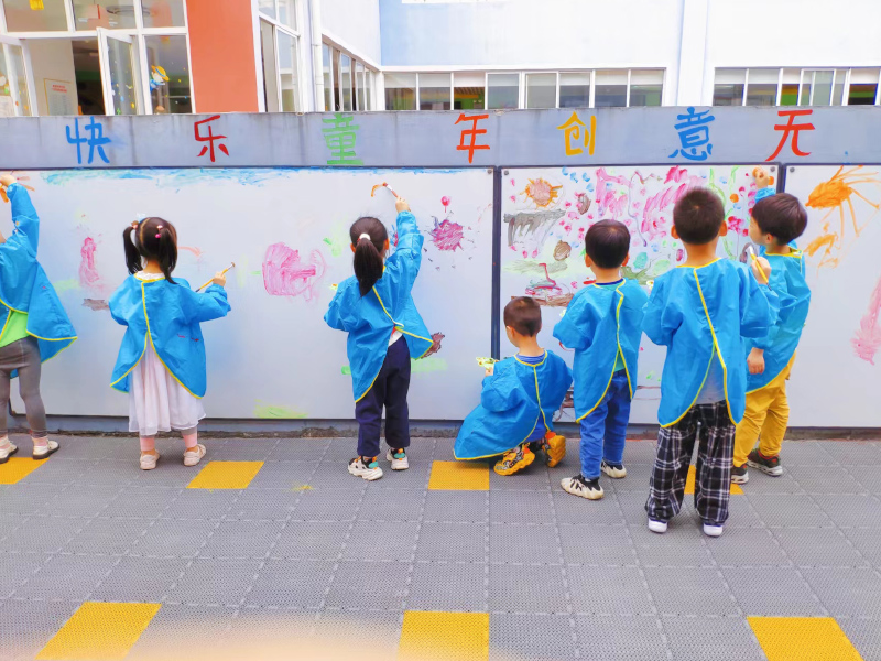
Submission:
{"label": "yellow floor tile in the front row, bottom left", "polygon": [[86,602],[36,655],[46,661],[124,659],[160,604]]}

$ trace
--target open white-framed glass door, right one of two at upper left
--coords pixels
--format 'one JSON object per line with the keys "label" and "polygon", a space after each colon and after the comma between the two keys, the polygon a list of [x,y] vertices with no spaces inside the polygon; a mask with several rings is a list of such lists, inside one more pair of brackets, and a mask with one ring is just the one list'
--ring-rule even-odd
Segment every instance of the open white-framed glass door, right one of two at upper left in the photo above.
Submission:
{"label": "open white-framed glass door, right one of two at upper left", "polygon": [[138,72],[139,57],[131,36],[118,35],[98,28],[100,44],[104,106],[107,115],[143,112]]}

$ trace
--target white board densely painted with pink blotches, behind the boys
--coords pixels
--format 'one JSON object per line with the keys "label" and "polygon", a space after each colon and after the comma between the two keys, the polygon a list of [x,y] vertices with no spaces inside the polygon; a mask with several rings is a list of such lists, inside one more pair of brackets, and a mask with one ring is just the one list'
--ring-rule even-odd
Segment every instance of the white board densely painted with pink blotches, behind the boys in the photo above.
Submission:
{"label": "white board densely painted with pink blotches, behind the boys", "polygon": [[[630,229],[628,278],[645,284],[685,260],[673,239],[673,206],[689,188],[709,187],[725,201],[728,236],[720,257],[741,259],[748,242],[755,185],[751,165],[509,169],[502,178],[501,306],[513,296],[542,303],[542,346],[572,365],[573,354],[552,336],[572,295],[594,278],[584,261],[584,236],[612,218]],[[772,171],[771,174],[775,174]],[[546,271],[545,271],[546,267]],[[648,291],[648,290],[646,290]],[[502,356],[514,348],[502,334]],[[656,424],[666,350],[644,335],[632,424]],[[564,409],[563,421],[574,420]]]}

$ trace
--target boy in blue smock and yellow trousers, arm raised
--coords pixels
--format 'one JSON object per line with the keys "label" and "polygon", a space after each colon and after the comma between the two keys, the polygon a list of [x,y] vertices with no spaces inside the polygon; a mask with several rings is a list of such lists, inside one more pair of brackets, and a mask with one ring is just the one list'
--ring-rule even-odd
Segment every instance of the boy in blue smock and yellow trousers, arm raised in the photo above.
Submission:
{"label": "boy in blue smock and yellow trousers, arm raised", "polygon": [[807,212],[795,196],[774,195],[764,170],[757,169],[755,184],[750,239],[773,269],[769,286],[780,300],[780,313],[768,335],[747,343],[747,409],[737,425],[731,469],[731,481],[741,485],[749,480],[747,465],[771,476],[783,474],[780,449],[790,422],[786,381],[811,306],[805,260],[794,243],[807,227]]}

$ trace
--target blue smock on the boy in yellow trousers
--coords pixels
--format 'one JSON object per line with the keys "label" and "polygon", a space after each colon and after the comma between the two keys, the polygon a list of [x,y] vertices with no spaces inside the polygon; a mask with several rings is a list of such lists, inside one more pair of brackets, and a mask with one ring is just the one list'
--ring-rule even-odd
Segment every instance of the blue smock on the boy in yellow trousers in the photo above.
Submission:
{"label": "blue smock on the boy in yellow trousers", "polygon": [[764,371],[747,376],[747,392],[760,390],[782,372],[795,355],[802,329],[811,307],[811,289],[805,281],[805,260],[800,250],[788,254],[768,254],[763,257],[771,263],[770,286],[780,300],[776,323],[764,337],[747,343],[747,354],[753,347],[764,349]]}

